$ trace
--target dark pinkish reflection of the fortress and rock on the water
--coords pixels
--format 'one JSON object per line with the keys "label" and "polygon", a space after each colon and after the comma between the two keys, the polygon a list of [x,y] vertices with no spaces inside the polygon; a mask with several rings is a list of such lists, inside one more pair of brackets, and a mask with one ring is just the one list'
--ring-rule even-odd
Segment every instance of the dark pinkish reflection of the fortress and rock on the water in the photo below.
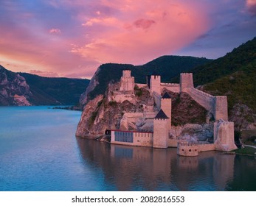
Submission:
{"label": "dark pinkish reflection of the fortress and rock on the water", "polygon": [[[180,157],[176,149],[111,145],[77,138],[83,160],[100,168],[105,190],[224,191],[235,190],[235,155],[202,152]],[[255,168],[255,160],[253,160]]]}

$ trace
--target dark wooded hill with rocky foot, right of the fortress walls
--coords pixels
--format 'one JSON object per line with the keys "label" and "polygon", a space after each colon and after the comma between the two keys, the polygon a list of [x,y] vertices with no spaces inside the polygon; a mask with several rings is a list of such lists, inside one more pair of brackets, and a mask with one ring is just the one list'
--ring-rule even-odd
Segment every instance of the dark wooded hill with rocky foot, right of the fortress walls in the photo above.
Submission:
{"label": "dark wooded hill with rocky foot, right of the fortress walls", "polygon": [[[255,124],[256,38],[190,72],[193,72],[195,86],[201,90],[214,96],[227,96],[229,119],[235,121],[236,129],[249,129]],[[172,80],[178,82],[178,79]]]}

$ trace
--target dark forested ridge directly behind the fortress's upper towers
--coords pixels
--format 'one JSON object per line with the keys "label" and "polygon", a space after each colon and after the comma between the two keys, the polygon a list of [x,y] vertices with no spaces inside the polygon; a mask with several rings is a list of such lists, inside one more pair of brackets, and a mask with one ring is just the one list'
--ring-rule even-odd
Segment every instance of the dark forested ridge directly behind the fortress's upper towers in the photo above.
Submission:
{"label": "dark forested ridge directly behind the fortress's upper towers", "polygon": [[162,82],[170,82],[170,79],[195,68],[198,65],[210,63],[212,60],[198,57],[162,56],[145,65],[107,63],[100,65],[89,87],[80,98],[81,104],[86,104],[89,99],[94,99],[98,94],[104,94],[109,82],[118,82],[125,69],[131,70],[135,82],[145,83],[146,76],[158,74],[162,76]]}

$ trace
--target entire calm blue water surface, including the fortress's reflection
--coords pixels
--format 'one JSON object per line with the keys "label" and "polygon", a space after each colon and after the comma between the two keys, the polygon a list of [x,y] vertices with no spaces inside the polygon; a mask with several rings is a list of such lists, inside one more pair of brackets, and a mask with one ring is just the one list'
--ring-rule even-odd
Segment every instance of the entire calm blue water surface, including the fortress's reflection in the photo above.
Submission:
{"label": "entire calm blue water surface, including the fortress's reflection", "polygon": [[0,107],[0,191],[256,191],[255,157],[75,138],[80,114]]}

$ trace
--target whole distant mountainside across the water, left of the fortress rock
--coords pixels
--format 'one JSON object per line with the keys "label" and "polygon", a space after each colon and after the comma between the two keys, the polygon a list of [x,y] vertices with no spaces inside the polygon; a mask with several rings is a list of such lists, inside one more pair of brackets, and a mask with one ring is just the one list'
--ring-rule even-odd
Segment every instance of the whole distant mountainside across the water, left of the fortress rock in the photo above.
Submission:
{"label": "whole distant mountainside across the water, left of the fortress rock", "polygon": [[89,79],[40,77],[0,65],[0,105],[75,105],[88,85]]}

